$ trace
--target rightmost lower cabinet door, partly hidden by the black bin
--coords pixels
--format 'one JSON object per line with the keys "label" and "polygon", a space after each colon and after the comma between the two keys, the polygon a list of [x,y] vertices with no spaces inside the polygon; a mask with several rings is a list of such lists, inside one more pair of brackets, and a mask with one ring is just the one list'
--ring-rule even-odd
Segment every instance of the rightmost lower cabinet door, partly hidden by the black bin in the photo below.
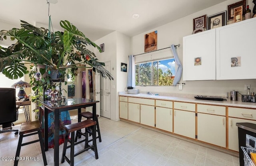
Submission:
{"label": "rightmost lower cabinet door, partly hidden by the black bin", "polygon": [[236,126],[236,123],[245,122],[256,124],[256,121],[228,117],[228,149],[235,150],[237,152],[239,151],[238,127]]}

